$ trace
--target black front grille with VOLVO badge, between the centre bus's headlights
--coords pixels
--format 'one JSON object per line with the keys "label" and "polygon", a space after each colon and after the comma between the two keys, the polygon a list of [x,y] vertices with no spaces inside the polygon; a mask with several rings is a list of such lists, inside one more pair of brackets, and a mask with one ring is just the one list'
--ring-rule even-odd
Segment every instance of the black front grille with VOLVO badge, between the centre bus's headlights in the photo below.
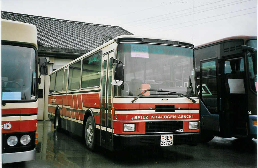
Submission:
{"label": "black front grille with VOLVO badge, between the centre bus's headlights", "polygon": [[183,129],[183,121],[149,121],[146,122],[146,133],[176,132]]}

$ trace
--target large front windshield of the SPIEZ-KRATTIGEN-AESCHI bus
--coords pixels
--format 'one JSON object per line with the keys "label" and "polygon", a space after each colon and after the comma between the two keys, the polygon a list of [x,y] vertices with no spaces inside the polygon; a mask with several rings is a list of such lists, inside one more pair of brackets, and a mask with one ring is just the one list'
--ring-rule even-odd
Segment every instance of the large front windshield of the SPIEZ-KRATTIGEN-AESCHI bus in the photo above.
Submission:
{"label": "large front windshield of the SPIEZ-KRATTIGEN-AESCHI bus", "polygon": [[[124,83],[115,96],[138,96],[140,89],[163,89],[194,96],[193,49],[169,45],[120,43],[117,59],[124,64]],[[150,96],[167,92],[151,91]],[[148,96],[148,95],[144,95]]]}

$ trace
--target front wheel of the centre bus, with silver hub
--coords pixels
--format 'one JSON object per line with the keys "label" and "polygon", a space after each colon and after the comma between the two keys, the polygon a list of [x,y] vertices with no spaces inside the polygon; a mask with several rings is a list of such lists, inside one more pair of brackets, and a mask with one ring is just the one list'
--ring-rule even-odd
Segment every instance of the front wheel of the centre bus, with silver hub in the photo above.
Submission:
{"label": "front wheel of the centre bus, with silver hub", "polygon": [[86,147],[90,151],[94,151],[95,147],[95,124],[93,122],[92,116],[88,117],[85,125],[85,141]]}

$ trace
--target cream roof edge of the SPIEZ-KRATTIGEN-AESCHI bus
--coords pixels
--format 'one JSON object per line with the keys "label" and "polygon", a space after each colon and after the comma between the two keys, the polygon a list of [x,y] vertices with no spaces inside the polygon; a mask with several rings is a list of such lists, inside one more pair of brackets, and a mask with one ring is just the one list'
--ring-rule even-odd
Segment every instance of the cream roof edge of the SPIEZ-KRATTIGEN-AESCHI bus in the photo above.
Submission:
{"label": "cream roof edge of the SPIEZ-KRATTIGEN-AESCHI bus", "polygon": [[[121,36],[117,36],[114,39],[102,44],[101,46],[97,47],[96,49],[93,49],[92,51],[80,56],[79,58],[71,61],[70,63],[67,63],[66,65],[63,65],[62,67],[56,69],[55,71],[52,71],[51,73],[56,72],[59,69],[62,69],[64,67],[66,67],[67,65],[70,65],[70,64],[72,64],[72,63],[74,63],[74,62],[76,62],[76,61],[78,61],[78,60],[80,60],[80,59],[82,59],[82,58],[84,58],[88,55],[91,55],[92,53],[95,53],[96,51],[98,51],[98,50],[100,50],[100,49],[102,49],[102,48],[104,48],[104,47],[106,47],[106,46],[108,46],[112,43],[115,43],[118,39],[123,39],[123,38],[128,38],[128,39],[132,39],[132,40],[137,39],[137,38],[142,38],[142,39],[155,39],[155,40],[164,40],[164,41],[177,41],[177,42],[180,42],[180,43],[185,43],[185,44],[188,44],[188,45],[192,45],[191,43],[188,43],[188,42],[185,42],[185,41],[178,41],[178,40],[171,40],[171,39],[162,39],[162,38],[156,38],[156,37],[144,37],[144,36],[136,36],[136,35],[121,35]],[[194,47],[194,46],[192,45],[192,47]]]}

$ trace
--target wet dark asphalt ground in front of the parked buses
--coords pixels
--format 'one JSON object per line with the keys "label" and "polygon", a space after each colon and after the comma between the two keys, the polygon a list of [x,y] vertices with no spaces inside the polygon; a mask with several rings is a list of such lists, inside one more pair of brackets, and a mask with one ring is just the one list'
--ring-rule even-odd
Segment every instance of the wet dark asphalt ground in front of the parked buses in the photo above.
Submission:
{"label": "wet dark asphalt ground in front of the parked buses", "polygon": [[257,140],[215,137],[196,146],[138,147],[111,152],[86,149],[84,141],[38,121],[36,160],[2,167],[257,167]]}

